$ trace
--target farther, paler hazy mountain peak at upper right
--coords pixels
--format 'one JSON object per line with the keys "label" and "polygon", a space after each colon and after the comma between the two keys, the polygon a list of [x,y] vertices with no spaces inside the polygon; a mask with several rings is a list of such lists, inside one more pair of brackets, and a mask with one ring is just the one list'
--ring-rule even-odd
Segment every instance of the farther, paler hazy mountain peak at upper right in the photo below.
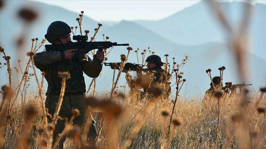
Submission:
{"label": "farther, paler hazy mountain peak at upper right", "polygon": [[[233,27],[242,19],[243,2],[221,3]],[[266,5],[251,6],[254,10],[250,24],[252,53],[266,60]],[[199,2],[159,21],[134,21],[143,27],[180,45],[224,42],[226,36],[207,2]]]}

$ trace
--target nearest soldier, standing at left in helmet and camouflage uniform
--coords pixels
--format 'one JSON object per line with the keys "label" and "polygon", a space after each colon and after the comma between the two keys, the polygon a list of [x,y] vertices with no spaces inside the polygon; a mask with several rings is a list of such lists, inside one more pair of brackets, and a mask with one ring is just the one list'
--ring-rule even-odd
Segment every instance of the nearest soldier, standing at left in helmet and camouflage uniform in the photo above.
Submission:
{"label": "nearest soldier, standing at left in helmet and camouflage uniform", "polygon": [[[67,23],[63,21],[52,22],[48,29],[45,38],[51,44],[67,44],[71,41],[72,29]],[[97,51],[93,56],[93,59],[87,59],[87,61],[80,63],[78,56],[72,52],[77,49],[65,50],[63,52],[40,52],[33,56],[34,65],[44,72],[44,77],[48,82],[48,89],[46,92],[45,107],[48,109],[48,113],[53,116],[56,110],[56,105],[59,99],[60,88],[62,85],[62,78],[58,77],[59,72],[68,71],[70,73],[69,79],[66,81],[65,95],[63,97],[59,116],[61,118],[68,118],[70,120],[72,109],[79,109],[80,115],[75,117],[73,124],[77,124],[80,127],[85,121],[85,109],[82,106],[81,99],[86,96],[86,85],[83,77],[83,72],[91,77],[97,78],[102,71],[102,65],[99,61],[103,61],[105,58],[104,52]],[[48,121],[52,122],[52,118],[48,117]],[[93,120],[94,123],[94,120]],[[53,144],[59,133],[64,129],[65,121],[58,119],[57,125],[54,130]],[[94,145],[97,131],[94,124],[91,124],[88,134],[89,142]],[[63,148],[63,143],[66,140],[66,136],[58,144],[58,148]]]}

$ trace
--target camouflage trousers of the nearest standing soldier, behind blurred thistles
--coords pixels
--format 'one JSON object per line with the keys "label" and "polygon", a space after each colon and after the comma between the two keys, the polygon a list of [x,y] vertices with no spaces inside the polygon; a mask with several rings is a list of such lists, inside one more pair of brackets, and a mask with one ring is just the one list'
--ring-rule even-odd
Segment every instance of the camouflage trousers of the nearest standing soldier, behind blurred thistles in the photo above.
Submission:
{"label": "camouflage trousers of the nearest standing soldier, behind blurred thistles", "polygon": [[[50,113],[50,114],[53,115],[53,113]],[[68,118],[68,120],[71,119],[71,116],[72,115],[68,115],[68,114],[59,114],[59,117],[62,117],[63,119]],[[88,117],[91,117],[91,115]],[[91,119],[92,119],[92,117],[91,117]],[[48,121],[49,121],[49,123],[51,123],[53,120],[52,120],[52,118],[48,117]],[[82,112],[82,113],[80,113],[79,116],[75,117],[75,119],[72,122],[72,125],[77,125],[77,126],[81,127],[82,132],[83,132],[83,123],[84,122],[86,122],[86,114],[85,114],[85,112]],[[93,146],[92,148],[96,148],[94,146],[94,142],[95,142],[95,139],[97,136],[97,131],[96,131],[94,124],[95,124],[95,121],[92,119],[92,124],[91,124],[90,130],[89,130],[89,133],[87,135],[87,138],[89,141],[88,143],[91,144],[91,146]],[[56,142],[58,135],[64,130],[64,128],[65,128],[65,120],[58,119],[57,124],[55,126],[55,130],[54,130],[53,145]],[[59,144],[57,146],[57,149],[63,149],[64,148],[64,142],[65,142],[66,138],[67,138],[67,134],[61,139],[61,141],[59,142]]]}

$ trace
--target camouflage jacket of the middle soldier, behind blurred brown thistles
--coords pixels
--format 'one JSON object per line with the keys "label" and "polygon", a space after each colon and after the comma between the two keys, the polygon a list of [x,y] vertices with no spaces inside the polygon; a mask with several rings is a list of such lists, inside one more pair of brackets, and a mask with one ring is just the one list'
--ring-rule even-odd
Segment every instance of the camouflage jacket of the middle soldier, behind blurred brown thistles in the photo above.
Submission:
{"label": "camouflage jacket of the middle soldier, behind blurred brown thistles", "polygon": [[164,70],[157,66],[154,68],[151,68],[149,70],[149,73],[146,73],[144,75],[139,76],[136,80],[134,80],[129,73],[126,74],[127,83],[130,87],[130,89],[142,89],[144,93],[151,94],[150,88],[151,86],[158,86],[164,85],[165,92],[167,93],[167,97],[171,94],[171,87],[170,83],[166,82],[162,84],[162,82],[165,81],[166,76],[164,73]]}

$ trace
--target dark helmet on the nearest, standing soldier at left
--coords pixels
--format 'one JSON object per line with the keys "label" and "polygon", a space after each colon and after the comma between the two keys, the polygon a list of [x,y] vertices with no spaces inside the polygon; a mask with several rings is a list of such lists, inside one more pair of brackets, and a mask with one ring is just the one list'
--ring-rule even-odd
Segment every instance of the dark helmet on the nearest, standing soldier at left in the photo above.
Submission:
{"label": "dark helmet on the nearest, standing soldier at left", "polygon": [[72,29],[66,22],[54,21],[48,26],[47,33],[44,37],[48,42],[54,43],[58,37],[65,36],[71,32]]}

